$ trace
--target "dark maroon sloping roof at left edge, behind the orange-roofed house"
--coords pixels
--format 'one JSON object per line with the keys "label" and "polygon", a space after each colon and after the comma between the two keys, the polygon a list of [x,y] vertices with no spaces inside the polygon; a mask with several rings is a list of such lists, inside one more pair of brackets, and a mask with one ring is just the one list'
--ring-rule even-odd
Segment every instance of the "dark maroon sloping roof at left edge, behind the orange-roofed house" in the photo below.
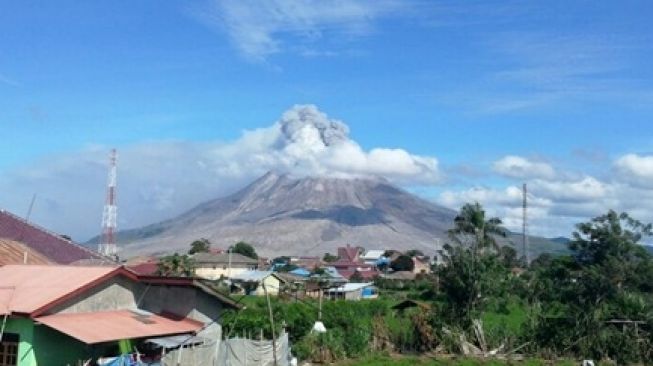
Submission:
{"label": "dark maroon sloping roof at left edge, behind the orange-roofed house", "polygon": [[62,238],[5,210],[0,210],[0,238],[21,242],[50,261],[70,264],[82,259],[102,259],[94,251]]}

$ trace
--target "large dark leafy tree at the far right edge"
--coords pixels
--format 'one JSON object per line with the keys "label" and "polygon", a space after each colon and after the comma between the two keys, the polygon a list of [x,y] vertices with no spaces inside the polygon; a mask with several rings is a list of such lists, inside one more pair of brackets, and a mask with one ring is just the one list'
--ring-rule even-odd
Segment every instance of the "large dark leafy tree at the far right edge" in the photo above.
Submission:
{"label": "large dark leafy tree at the far right edge", "polygon": [[651,225],[610,210],[576,229],[568,244],[571,255],[534,267],[534,293],[541,308],[557,309],[569,319],[559,326],[540,320],[536,342],[619,364],[646,362],[652,350],[642,340],[650,333],[611,322],[653,323],[653,261],[639,245],[651,235]]}

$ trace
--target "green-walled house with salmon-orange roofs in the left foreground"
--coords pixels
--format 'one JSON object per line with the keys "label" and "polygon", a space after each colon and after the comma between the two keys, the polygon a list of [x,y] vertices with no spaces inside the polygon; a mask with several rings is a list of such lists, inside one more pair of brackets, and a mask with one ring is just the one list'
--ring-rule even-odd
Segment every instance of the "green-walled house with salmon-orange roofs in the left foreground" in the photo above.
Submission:
{"label": "green-walled house with salmon-orange roofs in the left foreground", "polygon": [[138,276],[124,267],[6,265],[0,360],[77,365],[180,335],[217,347],[222,313],[238,307],[193,278]]}

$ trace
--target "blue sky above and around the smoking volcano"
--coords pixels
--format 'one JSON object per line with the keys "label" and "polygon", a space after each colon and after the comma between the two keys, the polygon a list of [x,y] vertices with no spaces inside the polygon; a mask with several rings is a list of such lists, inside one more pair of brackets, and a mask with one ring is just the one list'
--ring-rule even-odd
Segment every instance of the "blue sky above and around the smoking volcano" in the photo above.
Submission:
{"label": "blue sky above and around the smoking volcano", "polygon": [[[641,198],[653,197],[650,1],[12,1],[3,8],[0,207],[20,213],[37,193],[35,219],[79,239],[97,231],[92,213],[102,204],[109,147],[131,161],[122,177],[140,184],[121,187],[122,225],[135,226],[254,178],[257,169],[234,173],[220,154],[230,146],[252,156],[238,142],[243,131],[271,128],[295,104],[343,121],[363,153],[402,149],[436,159],[427,177],[407,176],[402,166],[388,175],[442,204],[480,199],[514,225],[508,190],[532,180],[534,202],[543,200],[533,230],[543,235],[568,233],[572,222],[610,207],[653,220]],[[222,153],[211,160],[217,182],[199,189],[190,180],[203,176],[178,165],[201,160],[188,151],[203,149]],[[173,153],[182,150],[183,158]],[[160,169],[137,177],[149,171],[136,165],[144,155]],[[82,175],[89,161],[94,169]],[[542,173],[543,165],[553,173]],[[166,183],[182,170],[189,181]],[[598,191],[560,194],[574,184]],[[148,211],[157,194],[147,187],[171,203]]]}

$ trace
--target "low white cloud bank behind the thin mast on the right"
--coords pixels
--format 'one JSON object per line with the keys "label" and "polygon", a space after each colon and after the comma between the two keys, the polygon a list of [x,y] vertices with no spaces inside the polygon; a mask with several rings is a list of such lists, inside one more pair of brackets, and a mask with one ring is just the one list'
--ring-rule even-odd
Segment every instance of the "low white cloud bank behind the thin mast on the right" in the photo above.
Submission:
{"label": "low white cloud bank behind the thin mast on the right", "polygon": [[[446,190],[437,201],[453,209],[467,202],[479,202],[490,215],[503,219],[509,229],[521,230],[522,194],[518,186]],[[568,236],[575,224],[610,209],[653,222],[650,207],[653,207],[653,189],[618,179],[601,180],[569,173],[556,179],[534,179],[528,183],[529,227],[535,235]]]}

